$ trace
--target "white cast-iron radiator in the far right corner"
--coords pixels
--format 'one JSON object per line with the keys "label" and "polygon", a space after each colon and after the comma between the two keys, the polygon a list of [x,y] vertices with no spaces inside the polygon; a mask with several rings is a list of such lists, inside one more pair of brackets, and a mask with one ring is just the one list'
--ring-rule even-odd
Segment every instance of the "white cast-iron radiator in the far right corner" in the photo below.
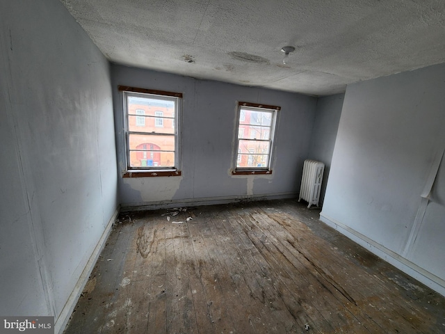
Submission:
{"label": "white cast-iron radiator in the far right corner", "polygon": [[311,207],[311,205],[318,207],[324,170],[325,164],[323,164],[323,162],[309,159],[305,160],[298,202],[303,199],[308,203],[308,208]]}

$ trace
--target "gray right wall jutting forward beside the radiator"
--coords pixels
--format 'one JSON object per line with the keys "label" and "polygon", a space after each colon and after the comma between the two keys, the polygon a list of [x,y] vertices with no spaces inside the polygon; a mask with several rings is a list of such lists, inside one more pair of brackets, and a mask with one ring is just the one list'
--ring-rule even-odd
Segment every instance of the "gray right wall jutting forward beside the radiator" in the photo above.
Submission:
{"label": "gray right wall jutting forward beside the radiator", "polygon": [[348,86],[321,213],[442,294],[444,92],[445,64]]}

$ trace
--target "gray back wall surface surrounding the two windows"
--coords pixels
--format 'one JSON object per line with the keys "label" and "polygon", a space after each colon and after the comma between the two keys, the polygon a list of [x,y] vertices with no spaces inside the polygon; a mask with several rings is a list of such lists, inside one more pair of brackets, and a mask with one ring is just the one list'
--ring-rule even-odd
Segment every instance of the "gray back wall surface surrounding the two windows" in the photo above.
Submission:
{"label": "gray back wall surface surrounding the two windows", "polygon": [[[118,85],[184,93],[181,177],[119,177],[122,206],[218,202],[296,196],[309,150],[316,98],[263,88],[202,81],[174,74],[112,66],[118,173],[124,170],[122,95]],[[281,106],[272,175],[236,175],[236,101]]]}

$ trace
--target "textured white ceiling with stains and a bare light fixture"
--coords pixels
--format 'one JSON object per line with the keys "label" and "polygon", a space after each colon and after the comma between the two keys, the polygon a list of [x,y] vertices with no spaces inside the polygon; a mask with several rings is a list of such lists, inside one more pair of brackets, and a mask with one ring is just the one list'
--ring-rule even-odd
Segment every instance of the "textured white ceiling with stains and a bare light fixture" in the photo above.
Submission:
{"label": "textured white ceiling with stains and a bare light fixture", "polygon": [[445,62],[444,0],[60,1],[114,63],[245,86],[330,95]]}

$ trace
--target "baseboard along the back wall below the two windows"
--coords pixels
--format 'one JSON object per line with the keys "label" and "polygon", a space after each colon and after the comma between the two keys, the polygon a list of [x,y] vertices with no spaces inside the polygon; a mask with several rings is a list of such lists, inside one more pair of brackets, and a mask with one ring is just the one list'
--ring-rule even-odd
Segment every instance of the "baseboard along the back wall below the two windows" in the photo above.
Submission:
{"label": "baseboard along the back wall below the two windows", "polygon": [[254,200],[278,200],[284,198],[297,198],[298,193],[266,193],[245,196],[220,196],[207,198],[189,198],[181,200],[161,200],[149,203],[129,203],[121,205],[121,212],[139,210],[170,209],[172,207],[187,207],[195,205],[218,205],[232,202],[254,201]]}

